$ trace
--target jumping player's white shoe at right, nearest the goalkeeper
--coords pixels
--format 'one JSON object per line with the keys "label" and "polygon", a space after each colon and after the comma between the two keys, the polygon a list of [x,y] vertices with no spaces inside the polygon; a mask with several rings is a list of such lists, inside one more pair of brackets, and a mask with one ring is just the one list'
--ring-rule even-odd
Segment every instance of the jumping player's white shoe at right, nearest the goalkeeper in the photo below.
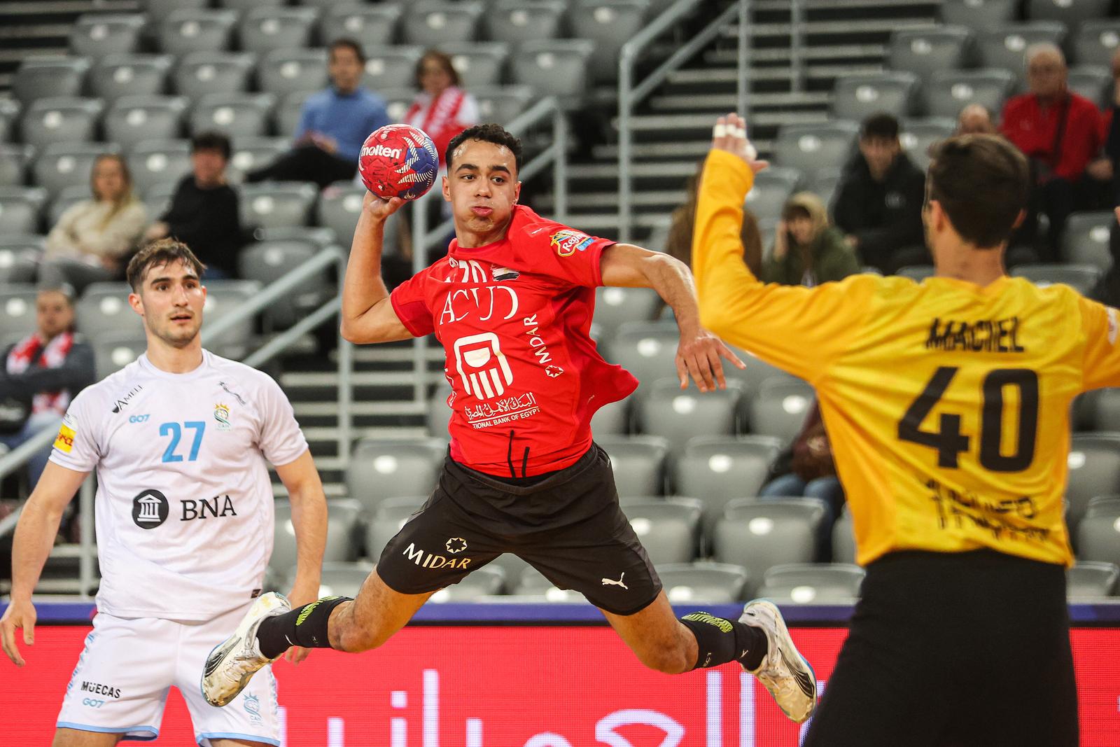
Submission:
{"label": "jumping player's white shoe at right, nearest the goalkeeper", "polygon": [[758,669],[747,672],[774,695],[778,708],[791,720],[797,723],[806,721],[816,708],[816,675],[793,645],[777,606],[765,599],[749,601],[743,608],[739,622],[762,628],[768,644]]}

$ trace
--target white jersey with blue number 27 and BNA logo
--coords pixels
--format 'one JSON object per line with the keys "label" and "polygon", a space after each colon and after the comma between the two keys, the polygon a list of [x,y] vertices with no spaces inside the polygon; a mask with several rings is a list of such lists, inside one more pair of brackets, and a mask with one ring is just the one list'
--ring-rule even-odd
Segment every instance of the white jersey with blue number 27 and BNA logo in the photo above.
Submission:
{"label": "white jersey with blue number 27 and BNA logo", "polygon": [[147,355],[78,394],[52,461],[97,470],[97,608],[207,620],[259,592],[272,553],[264,460],[307,450],[267,374],[203,352],[172,374]]}

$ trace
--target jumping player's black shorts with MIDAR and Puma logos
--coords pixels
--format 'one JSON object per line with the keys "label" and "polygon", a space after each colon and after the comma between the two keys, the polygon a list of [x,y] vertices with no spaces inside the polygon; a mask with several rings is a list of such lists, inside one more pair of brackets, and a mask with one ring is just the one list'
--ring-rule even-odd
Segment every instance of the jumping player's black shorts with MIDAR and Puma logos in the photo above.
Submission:
{"label": "jumping player's black shorts with MIDAR and Puma logos", "polygon": [[610,459],[598,445],[566,469],[519,483],[448,456],[431,497],[382,551],[377,575],[401,594],[426,594],[512,552],[557,588],[615,615],[654,600],[661,579],[618,507]]}

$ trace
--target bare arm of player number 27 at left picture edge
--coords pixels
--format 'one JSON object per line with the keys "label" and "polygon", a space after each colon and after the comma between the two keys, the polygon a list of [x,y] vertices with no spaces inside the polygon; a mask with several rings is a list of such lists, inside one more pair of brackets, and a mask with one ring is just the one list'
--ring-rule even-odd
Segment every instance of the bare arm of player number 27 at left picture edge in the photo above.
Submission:
{"label": "bare arm of player number 27 at left picture edge", "polygon": [[47,463],[43,476],[27,499],[24,512],[16,525],[16,538],[11,549],[11,604],[0,618],[0,642],[3,652],[17,666],[24,665],[24,657],[16,647],[16,628],[24,629],[24,643],[35,643],[35,607],[31,591],[39,581],[43,564],[47,562],[50,548],[58,534],[58,523],[63,511],[88,473],[75,471]]}

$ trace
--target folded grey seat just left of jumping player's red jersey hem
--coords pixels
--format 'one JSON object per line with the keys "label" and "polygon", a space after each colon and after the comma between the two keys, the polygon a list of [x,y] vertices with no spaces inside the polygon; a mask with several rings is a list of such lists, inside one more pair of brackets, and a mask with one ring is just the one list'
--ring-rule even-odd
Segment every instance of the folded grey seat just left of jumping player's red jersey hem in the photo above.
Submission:
{"label": "folded grey seat just left of jumping player's red jersey hem", "polygon": [[[437,473],[444,461],[442,455],[429,443],[428,439],[358,441],[346,469],[349,497],[372,511],[385,498],[429,495],[436,487]],[[418,501],[417,505],[423,498]]]}

